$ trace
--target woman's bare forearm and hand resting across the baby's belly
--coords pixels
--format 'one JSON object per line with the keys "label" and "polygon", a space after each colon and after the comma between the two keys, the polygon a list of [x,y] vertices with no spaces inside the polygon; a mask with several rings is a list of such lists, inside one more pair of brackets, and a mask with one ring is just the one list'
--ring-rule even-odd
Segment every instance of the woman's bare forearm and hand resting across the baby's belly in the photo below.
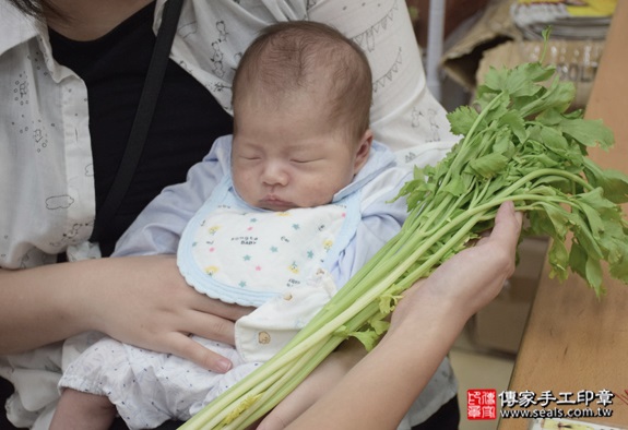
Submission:
{"label": "woman's bare forearm and hand resting across the baby's belly", "polygon": [[0,353],[96,330],[218,372],[228,370],[230,362],[189,334],[233,344],[234,322],[250,312],[197,292],[180,276],[173,255],[2,271],[0,299]]}

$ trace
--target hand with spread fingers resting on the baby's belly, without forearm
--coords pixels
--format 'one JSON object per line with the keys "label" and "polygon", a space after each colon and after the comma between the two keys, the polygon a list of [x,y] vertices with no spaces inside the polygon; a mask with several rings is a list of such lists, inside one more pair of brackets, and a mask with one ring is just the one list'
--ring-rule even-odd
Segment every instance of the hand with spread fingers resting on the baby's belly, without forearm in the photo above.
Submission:
{"label": "hand with spread fingers resting on the baby's belly, without forearm", "polygon": [[[185,283],[171,255],[119,258],[110,282],[118,292],[96,303],[94,323],[109,336],[146,349],[170,353],[205,369],[225,372],[230,361],[189,335],[234,345],[234,323],[251,309],[199,294]],[[123,306],[122,306],[123,303]]]}

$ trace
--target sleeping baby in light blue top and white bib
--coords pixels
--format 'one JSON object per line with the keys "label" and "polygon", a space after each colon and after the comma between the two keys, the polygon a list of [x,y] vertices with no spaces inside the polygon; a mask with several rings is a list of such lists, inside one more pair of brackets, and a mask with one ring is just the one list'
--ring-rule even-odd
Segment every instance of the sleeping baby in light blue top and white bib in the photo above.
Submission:
{"label": "sleeping baby in light blue top and white bib", "polygon": [[[116,414],[130,428],[189,419],[281,349],[399,231],[405,202],[388,202],[410,177],[374,141],[371,81],[365,55],[329,26],[292,22],[261,33],[234,77],[233,136],[164,190],[115,254],[178,242],[188,284],[256,307],[237,321],[235,348],[193,337],[232,370],[104,337],[66,369],[52,429],[107,429]],[[199,202],[194,213],[190,202]]]}

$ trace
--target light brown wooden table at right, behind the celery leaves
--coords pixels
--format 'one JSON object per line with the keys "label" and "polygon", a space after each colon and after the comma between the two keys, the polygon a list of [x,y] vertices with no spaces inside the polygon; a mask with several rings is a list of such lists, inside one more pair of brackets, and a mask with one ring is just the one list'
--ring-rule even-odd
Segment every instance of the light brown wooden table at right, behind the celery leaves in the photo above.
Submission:
{"label": "light brown wooden table at right, behind the celery leaves", "polygon": [[[601,166],[628,172],[628,1],[619,0],[606,38],[600,69],[586,107],[586,117],[603,119],[615,132],[615,147],[591,151]],[[628,204],[624,205],[628,213]],[[543,271],[509,391],[540,395],[609,390],[616,396],[613,416],[582,418],[628,429],[628,286],[605,275],[607,295],[597,300],[576,275],[566,283]],[[621,398],[620,398],[621,396]],[[499,401],[498,401],[499,403]],[[590,405],[592,409],[599,405]],[[549,404],[545,410],[558,407]],[[583,404],[560,407],[582,409]],[[532,406],[528,410],[543,409]],[[529,420],[501,419],[499,430],[528,429]]]}

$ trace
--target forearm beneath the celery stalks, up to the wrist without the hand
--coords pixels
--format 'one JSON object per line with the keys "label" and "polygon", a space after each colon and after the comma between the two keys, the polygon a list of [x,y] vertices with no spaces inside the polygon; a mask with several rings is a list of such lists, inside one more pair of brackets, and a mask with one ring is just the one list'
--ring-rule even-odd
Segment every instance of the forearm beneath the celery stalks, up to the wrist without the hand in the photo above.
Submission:
{"label": "forearm beneath the celery stalks, up to the wrist without the hand", "polygon": [[288,429],[395,429],[449,351],[465,318],[426,300]]}

